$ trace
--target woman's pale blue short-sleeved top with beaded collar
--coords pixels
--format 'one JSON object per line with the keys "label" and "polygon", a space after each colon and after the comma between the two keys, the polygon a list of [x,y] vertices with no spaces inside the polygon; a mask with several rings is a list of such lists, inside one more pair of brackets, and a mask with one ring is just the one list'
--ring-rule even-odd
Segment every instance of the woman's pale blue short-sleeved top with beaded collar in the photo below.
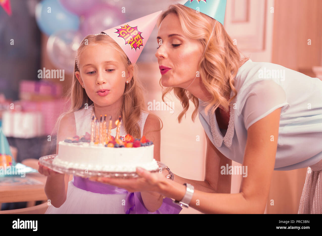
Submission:
{"label": "woman's pale blue short-sleeved top with beaded collar", "polygon": [[224,156],[242,163],[248,128],[281,107],[274,170],[304,168],[322,159],[321,80],[277,64],[248,60],[238,70],[235,88],[228,131],[218,127],[215,114],[210,118],[205,113],[208,103],[199,99],[200,122]]}

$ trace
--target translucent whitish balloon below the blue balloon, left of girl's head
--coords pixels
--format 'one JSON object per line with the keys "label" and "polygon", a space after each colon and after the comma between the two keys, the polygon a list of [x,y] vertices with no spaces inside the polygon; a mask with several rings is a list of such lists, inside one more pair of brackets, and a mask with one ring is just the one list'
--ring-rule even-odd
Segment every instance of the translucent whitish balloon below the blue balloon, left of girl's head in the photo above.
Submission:
{"label": "translucent whitish balloon below the blue balloon, left of girl's head", "polygon": [[62,30],[52,34],[47,41],[47,54],[57,69],[74,72],[76,51],[83,37],[78,31]]}

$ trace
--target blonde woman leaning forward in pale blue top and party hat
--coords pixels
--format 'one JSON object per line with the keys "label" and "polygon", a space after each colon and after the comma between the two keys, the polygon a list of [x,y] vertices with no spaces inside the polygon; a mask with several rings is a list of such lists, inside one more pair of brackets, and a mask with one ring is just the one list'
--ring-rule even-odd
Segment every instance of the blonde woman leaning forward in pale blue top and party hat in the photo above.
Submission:
{"label": "blonde woman leaning forward in pale blue top and party hat", "polygon": [[[207,138],[205,180],[169,171],[174,177],[169,181],[137,168],[141,179],[101,181],[129,191],[156,191],[203,213],[262,214],[273,170],[309,167],[298,213],[322,213],[322,81],[241,58],[223,28],[225,4],[170,5],[158,24],[163,98],[173,90],[181,101],[179,123],[189,100],[194,103],[192,120],[199,114]],[[279,76],[272,76],[276,71]],[[232,160],[247,167],[236,194],[230,193],[231,175],[222,168]]]}

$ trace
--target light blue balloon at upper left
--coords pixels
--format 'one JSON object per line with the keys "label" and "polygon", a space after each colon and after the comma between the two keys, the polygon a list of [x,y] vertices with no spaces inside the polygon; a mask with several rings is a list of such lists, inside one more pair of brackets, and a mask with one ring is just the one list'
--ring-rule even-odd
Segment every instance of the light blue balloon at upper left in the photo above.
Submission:
{"label": "light blue balloon at upper left", "polygon": [[42,32],[48,36],[61,30],[77,31],[80,19],[67,11],[58,0],[43,0],[36,6],[36,21]]}

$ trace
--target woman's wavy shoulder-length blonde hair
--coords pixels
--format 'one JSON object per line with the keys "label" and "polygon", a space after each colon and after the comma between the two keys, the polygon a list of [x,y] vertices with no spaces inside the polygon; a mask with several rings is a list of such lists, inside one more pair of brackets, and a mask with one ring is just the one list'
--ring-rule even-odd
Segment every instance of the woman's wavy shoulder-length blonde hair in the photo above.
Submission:
{"label": "woman's wavy shoulder-length blonde hair", "polygon": [[[158,19],[158,26],[160,26],[163,19],[169,14],[175,13],[180,21],[181,28],[187,37],[197,39],[203,48],[209,40],[203,57],[199,62],[199,72],[202,83],[209,93],[212,94],[212,99],[205,108],[207,114],[208,110],[214,105],[213,112],[222,105],[228,111],[229,104],[237,95],[234,87],[234,79],[237,71],[242,64],[244,64],[249,57],[245,57],[233,44],[232,39],[227,34],[223,25],[216,20],[205,15],[204,13],[197,13],[195,10],[186,7],[182,4],[172,4],[168,9],[162,12]],[[215,28],[213,30],[213,27]],[[211,34],[213,31],[213,34]],[[244,56],[241,59],[240,53]],[[160,79],[161,85],[161,79]],[[198,114],[199,100],[189,91],[179,87],[167,87],[162,92],[162,100],[166,94],[174,91],[175,96],[181,101],[183,110],[178,116],[178,121],[181,123],[183,116],[185,116],[189,109],[189,100],[194,103],[195,109],[192,113],[192,120],[195,120]],[[230,95],[231,90],[234,92],[232,98],[227,101],[226,96]]]}

